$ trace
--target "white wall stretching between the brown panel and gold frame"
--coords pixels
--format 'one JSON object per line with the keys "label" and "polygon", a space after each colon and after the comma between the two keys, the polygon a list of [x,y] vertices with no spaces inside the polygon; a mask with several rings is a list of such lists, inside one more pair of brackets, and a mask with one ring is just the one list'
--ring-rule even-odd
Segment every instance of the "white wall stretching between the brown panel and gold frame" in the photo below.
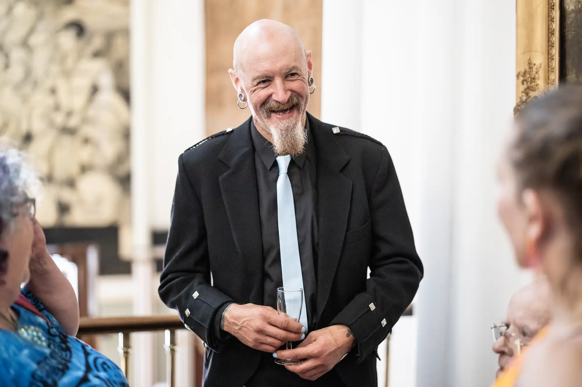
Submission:
{"label": "white wall stretching between the brown panel and gold frame", "polygon": [[[388,147],[425,266],[414,302],[418,367],[391,367],[416,378],[391,375],[399,387],[489,385],[489,326],[529,279],[495,213],[495,160],[514,103],[514,14],[503,0],[324,0],[322,119]],[[391,363],[410,353],[392,347]]]}

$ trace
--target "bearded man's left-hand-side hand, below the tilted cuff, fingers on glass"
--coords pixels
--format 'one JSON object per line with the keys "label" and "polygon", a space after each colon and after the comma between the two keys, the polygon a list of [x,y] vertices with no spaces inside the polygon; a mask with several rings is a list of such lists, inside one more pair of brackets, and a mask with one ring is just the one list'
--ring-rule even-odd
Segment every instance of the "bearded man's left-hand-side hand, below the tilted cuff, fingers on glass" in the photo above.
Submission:
{"label": "bearded man's left-hand-side hand, below the tilted cuff, fingers on glass", "polygon": [[269,306],[232,304],[224,315],[224,330],[244,345],[264,352],[275,352],[287,341],[305,337],[303,325]]}

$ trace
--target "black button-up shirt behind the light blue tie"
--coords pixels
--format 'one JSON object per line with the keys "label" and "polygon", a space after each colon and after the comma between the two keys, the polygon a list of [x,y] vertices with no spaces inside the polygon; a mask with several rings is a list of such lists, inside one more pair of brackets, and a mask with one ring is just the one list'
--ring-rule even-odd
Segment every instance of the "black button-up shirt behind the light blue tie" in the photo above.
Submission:
{"label": "black button-up shirt behind the light blue tie", "polygon": [[[315,267],[317,267],[317,193],[315,191],[315,146],[306,120],[307,144],[303,155],[294,157],[287,174],[293,190],[297,241],[303,273],[303,288],[309,330],[315,327]],[[277,217],[277,180],[279,167],[271,142],[262,137],[251,121],[251,137],[255,148],[258,205],[261,218],[263,304],[277,309],[277,288],[283,286],[279,224]]]}

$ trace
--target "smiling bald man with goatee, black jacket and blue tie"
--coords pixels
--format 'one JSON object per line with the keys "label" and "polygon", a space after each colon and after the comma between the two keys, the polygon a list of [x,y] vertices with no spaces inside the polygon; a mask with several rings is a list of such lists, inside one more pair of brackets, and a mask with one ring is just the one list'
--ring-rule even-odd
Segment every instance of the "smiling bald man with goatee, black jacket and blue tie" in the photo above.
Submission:
{"label": "smiling bald man with goatee, black jacket and blue tie", "polygon": [[285,24],[247,27],[229,73],[251,117],[180,155],[159,295],[207,346],[204,386],[377,386],[423,275],[388,150],[307,113],[311,51]]}

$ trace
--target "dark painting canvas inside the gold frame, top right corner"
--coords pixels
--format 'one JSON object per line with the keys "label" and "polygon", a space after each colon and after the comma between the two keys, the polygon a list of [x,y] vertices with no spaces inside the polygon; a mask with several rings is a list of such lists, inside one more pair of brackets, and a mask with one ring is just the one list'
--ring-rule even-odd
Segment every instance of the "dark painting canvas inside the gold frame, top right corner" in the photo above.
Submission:
{"label": "dark painting canvas inside the gold frame, top right corner", "polygon": [[560,81],[582,81],[582,0],[560,2]]}

